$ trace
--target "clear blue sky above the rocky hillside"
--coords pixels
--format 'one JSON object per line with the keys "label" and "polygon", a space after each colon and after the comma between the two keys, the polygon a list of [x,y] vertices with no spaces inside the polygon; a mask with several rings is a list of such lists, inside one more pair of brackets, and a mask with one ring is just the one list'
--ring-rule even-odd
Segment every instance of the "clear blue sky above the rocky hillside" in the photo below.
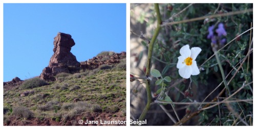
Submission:
{"label": "clear blue sky above the rocky hillside", "polygon": [[126,51],[126,5],[4,4],[4,81],[39,76],[58,32],[72,35],[79,62],[101,51]]}

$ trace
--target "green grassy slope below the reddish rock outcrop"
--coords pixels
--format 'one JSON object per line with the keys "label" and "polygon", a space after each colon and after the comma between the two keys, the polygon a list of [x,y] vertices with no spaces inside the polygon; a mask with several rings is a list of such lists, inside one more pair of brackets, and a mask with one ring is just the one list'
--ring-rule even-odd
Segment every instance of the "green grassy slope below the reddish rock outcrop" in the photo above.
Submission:
{"label": "green grassy slope below the reddish rock outcrop", "polygon": [[[125,120],[125,76],[125,69],[114,66],[75,74],[59,73],[57,81],[33,89],[5,85],[4,125],[79,125],[79,119],[97,118]],[[20,96],[27,91],[31,94]],[[75,98],[80,101],[74,102]],[[28,110],[25,115],[24,108]],[[26,118],[27,114],[31,118]]]}

